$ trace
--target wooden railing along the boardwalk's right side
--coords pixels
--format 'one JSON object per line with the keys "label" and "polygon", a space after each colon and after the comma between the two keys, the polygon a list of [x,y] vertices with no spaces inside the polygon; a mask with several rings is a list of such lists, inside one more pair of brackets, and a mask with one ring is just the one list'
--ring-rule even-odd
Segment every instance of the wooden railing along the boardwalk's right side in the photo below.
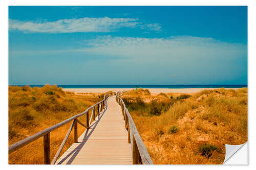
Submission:
{"label": "wooden railing along the boardwalk's right side", "polygon": [[128,131],[128,143],[132,143],[133,164],[154,164],[133,122],[131,114],[125,107],[123,100],[119,97],[123,93],[117,94],[116,101],[122,108],[125,129]]}

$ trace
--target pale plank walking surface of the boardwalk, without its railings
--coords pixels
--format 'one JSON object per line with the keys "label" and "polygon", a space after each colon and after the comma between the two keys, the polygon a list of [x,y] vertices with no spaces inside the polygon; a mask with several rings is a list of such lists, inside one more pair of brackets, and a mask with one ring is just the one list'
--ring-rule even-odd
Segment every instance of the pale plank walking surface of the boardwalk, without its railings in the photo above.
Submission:
{"label": "pale plank walking surface of the boardwalk, without its railings", "polygon": [[131,143],[116,97],[55,164],[132,164]]}

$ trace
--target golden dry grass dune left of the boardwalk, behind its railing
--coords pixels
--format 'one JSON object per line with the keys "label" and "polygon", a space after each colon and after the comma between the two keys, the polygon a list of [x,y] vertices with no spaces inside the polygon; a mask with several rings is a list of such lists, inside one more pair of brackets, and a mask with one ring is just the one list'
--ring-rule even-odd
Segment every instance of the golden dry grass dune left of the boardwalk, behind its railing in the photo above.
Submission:
{"label": "golden dry grass dune left of the boardwalk, behind its railing", "polygon": [[[9,145],[53,126],[101,101],[101,94],[79,95],[57,86],[9,86]],[[86,122],[86,116],[79,118]],[[51,160],[71,123],[50,133]],[[78,136],[85,128],[78,124]],[[73,144],[73,131],[61,154]],[[42,137],[9,154],[9,164],[44,164]]]}

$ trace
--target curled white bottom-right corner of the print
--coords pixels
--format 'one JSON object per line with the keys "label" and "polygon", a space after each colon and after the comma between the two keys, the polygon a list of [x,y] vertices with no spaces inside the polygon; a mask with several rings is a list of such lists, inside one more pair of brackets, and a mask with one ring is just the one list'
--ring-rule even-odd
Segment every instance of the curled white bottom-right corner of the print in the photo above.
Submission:
{"label": "curled white bottom-right corner of the print", "polygon": [[[225,144],[226,154],[223,164],[247,164],[247,142],[238,145]],[[243,148],[243,149],[241,149]]]}

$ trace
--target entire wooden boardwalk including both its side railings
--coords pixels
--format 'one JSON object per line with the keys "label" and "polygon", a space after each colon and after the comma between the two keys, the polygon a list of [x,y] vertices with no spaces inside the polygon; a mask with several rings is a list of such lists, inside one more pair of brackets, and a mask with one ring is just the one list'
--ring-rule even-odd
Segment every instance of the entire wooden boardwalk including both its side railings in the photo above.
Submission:
{"label": "entire wooden boardwalk including both its side railings", "polygon": [[[42,147],[44,147],[45,164],[154,164],[129,110],[120,98],[123,93],[125,91],[106,93],[102,101],[82,113],[10,145],[9,154],[44,137]],[[78,120],[81,116],[86,116],[85,124]],[[50,133],[69,122],[72,124],[51,160],[50,154],[54,153],[50,152]],[[79,138],[78,124],[87,128]],[[74,144],[59,157],[72,129]]]}

